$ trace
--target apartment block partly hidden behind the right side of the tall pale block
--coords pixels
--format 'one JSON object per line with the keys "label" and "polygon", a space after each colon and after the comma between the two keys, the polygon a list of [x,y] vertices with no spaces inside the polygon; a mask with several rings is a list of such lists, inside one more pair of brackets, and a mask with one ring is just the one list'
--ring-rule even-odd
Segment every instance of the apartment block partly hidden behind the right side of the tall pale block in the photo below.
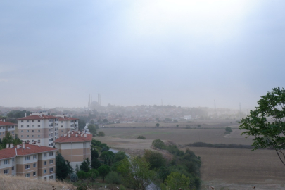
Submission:
{"label": "apartment block partly hidden behind the right side of the tall pale block", "polygon": [[55,115],[58,118],[58,137],[63,137],[68,131],[78,131],[78,119],[71,115]]}

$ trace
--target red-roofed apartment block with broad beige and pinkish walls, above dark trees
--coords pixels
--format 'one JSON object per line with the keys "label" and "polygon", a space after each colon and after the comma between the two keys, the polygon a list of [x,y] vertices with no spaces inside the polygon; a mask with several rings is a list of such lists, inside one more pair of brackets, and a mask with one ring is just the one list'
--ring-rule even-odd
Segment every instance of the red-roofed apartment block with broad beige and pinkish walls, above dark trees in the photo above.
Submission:
{"label": "red-roofed apartment block with broad beige and pinkish walls, above dark trees", "polygon": [[58,152],[65,160],[70,161],[73,169],[75,169],[76,164],[80,165],[84,159],[89,158],[91,161],[91,141],[91,134],[69,131],[54,142]]}

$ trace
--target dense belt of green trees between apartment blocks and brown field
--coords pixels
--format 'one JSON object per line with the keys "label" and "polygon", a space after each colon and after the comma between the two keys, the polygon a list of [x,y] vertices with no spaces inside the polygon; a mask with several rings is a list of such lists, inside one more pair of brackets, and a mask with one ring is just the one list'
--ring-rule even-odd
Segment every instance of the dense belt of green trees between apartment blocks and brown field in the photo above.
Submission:
{"label": "dense belt of green trees between apartment blocks and brown field", "polygon": [[146,190],[148,186],[161,190],[199,188],[199,157],[189,150],[180,151],[175,145],[165,146],[159,139],[153,141],[153,146],[169,151],[172,159],[151,150],[146,150],[144,156],[129,158],[123,151],[113,153],[107,144],[93,139],[91,160],[85,159],[74,169],[57,153],[56,177],[70,180],[77,189],[96,188],[98,182],[115,184],[123,190]]}

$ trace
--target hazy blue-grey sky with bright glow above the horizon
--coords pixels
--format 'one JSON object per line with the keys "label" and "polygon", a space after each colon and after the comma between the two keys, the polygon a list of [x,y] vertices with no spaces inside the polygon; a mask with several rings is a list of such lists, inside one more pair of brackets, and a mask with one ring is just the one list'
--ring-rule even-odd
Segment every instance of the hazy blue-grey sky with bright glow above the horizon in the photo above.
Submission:
{"label": "hazy blue-grey sky with bright glow above the horizon", "polygon": [[1,1],[0,106],[252,108],[285,87],[285,1]]}

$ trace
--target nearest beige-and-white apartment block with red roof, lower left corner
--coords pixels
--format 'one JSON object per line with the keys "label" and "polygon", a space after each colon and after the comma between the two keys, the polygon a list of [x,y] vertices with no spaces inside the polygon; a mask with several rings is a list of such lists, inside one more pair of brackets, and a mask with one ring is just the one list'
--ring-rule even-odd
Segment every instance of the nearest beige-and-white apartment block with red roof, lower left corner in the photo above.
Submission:
{"label": "nearest beige-and-white apartment block with red roof, lower left corner", "polygon": [[0,150],[0,174],[45,181],[56,179],[56,148],[22,144]]}

